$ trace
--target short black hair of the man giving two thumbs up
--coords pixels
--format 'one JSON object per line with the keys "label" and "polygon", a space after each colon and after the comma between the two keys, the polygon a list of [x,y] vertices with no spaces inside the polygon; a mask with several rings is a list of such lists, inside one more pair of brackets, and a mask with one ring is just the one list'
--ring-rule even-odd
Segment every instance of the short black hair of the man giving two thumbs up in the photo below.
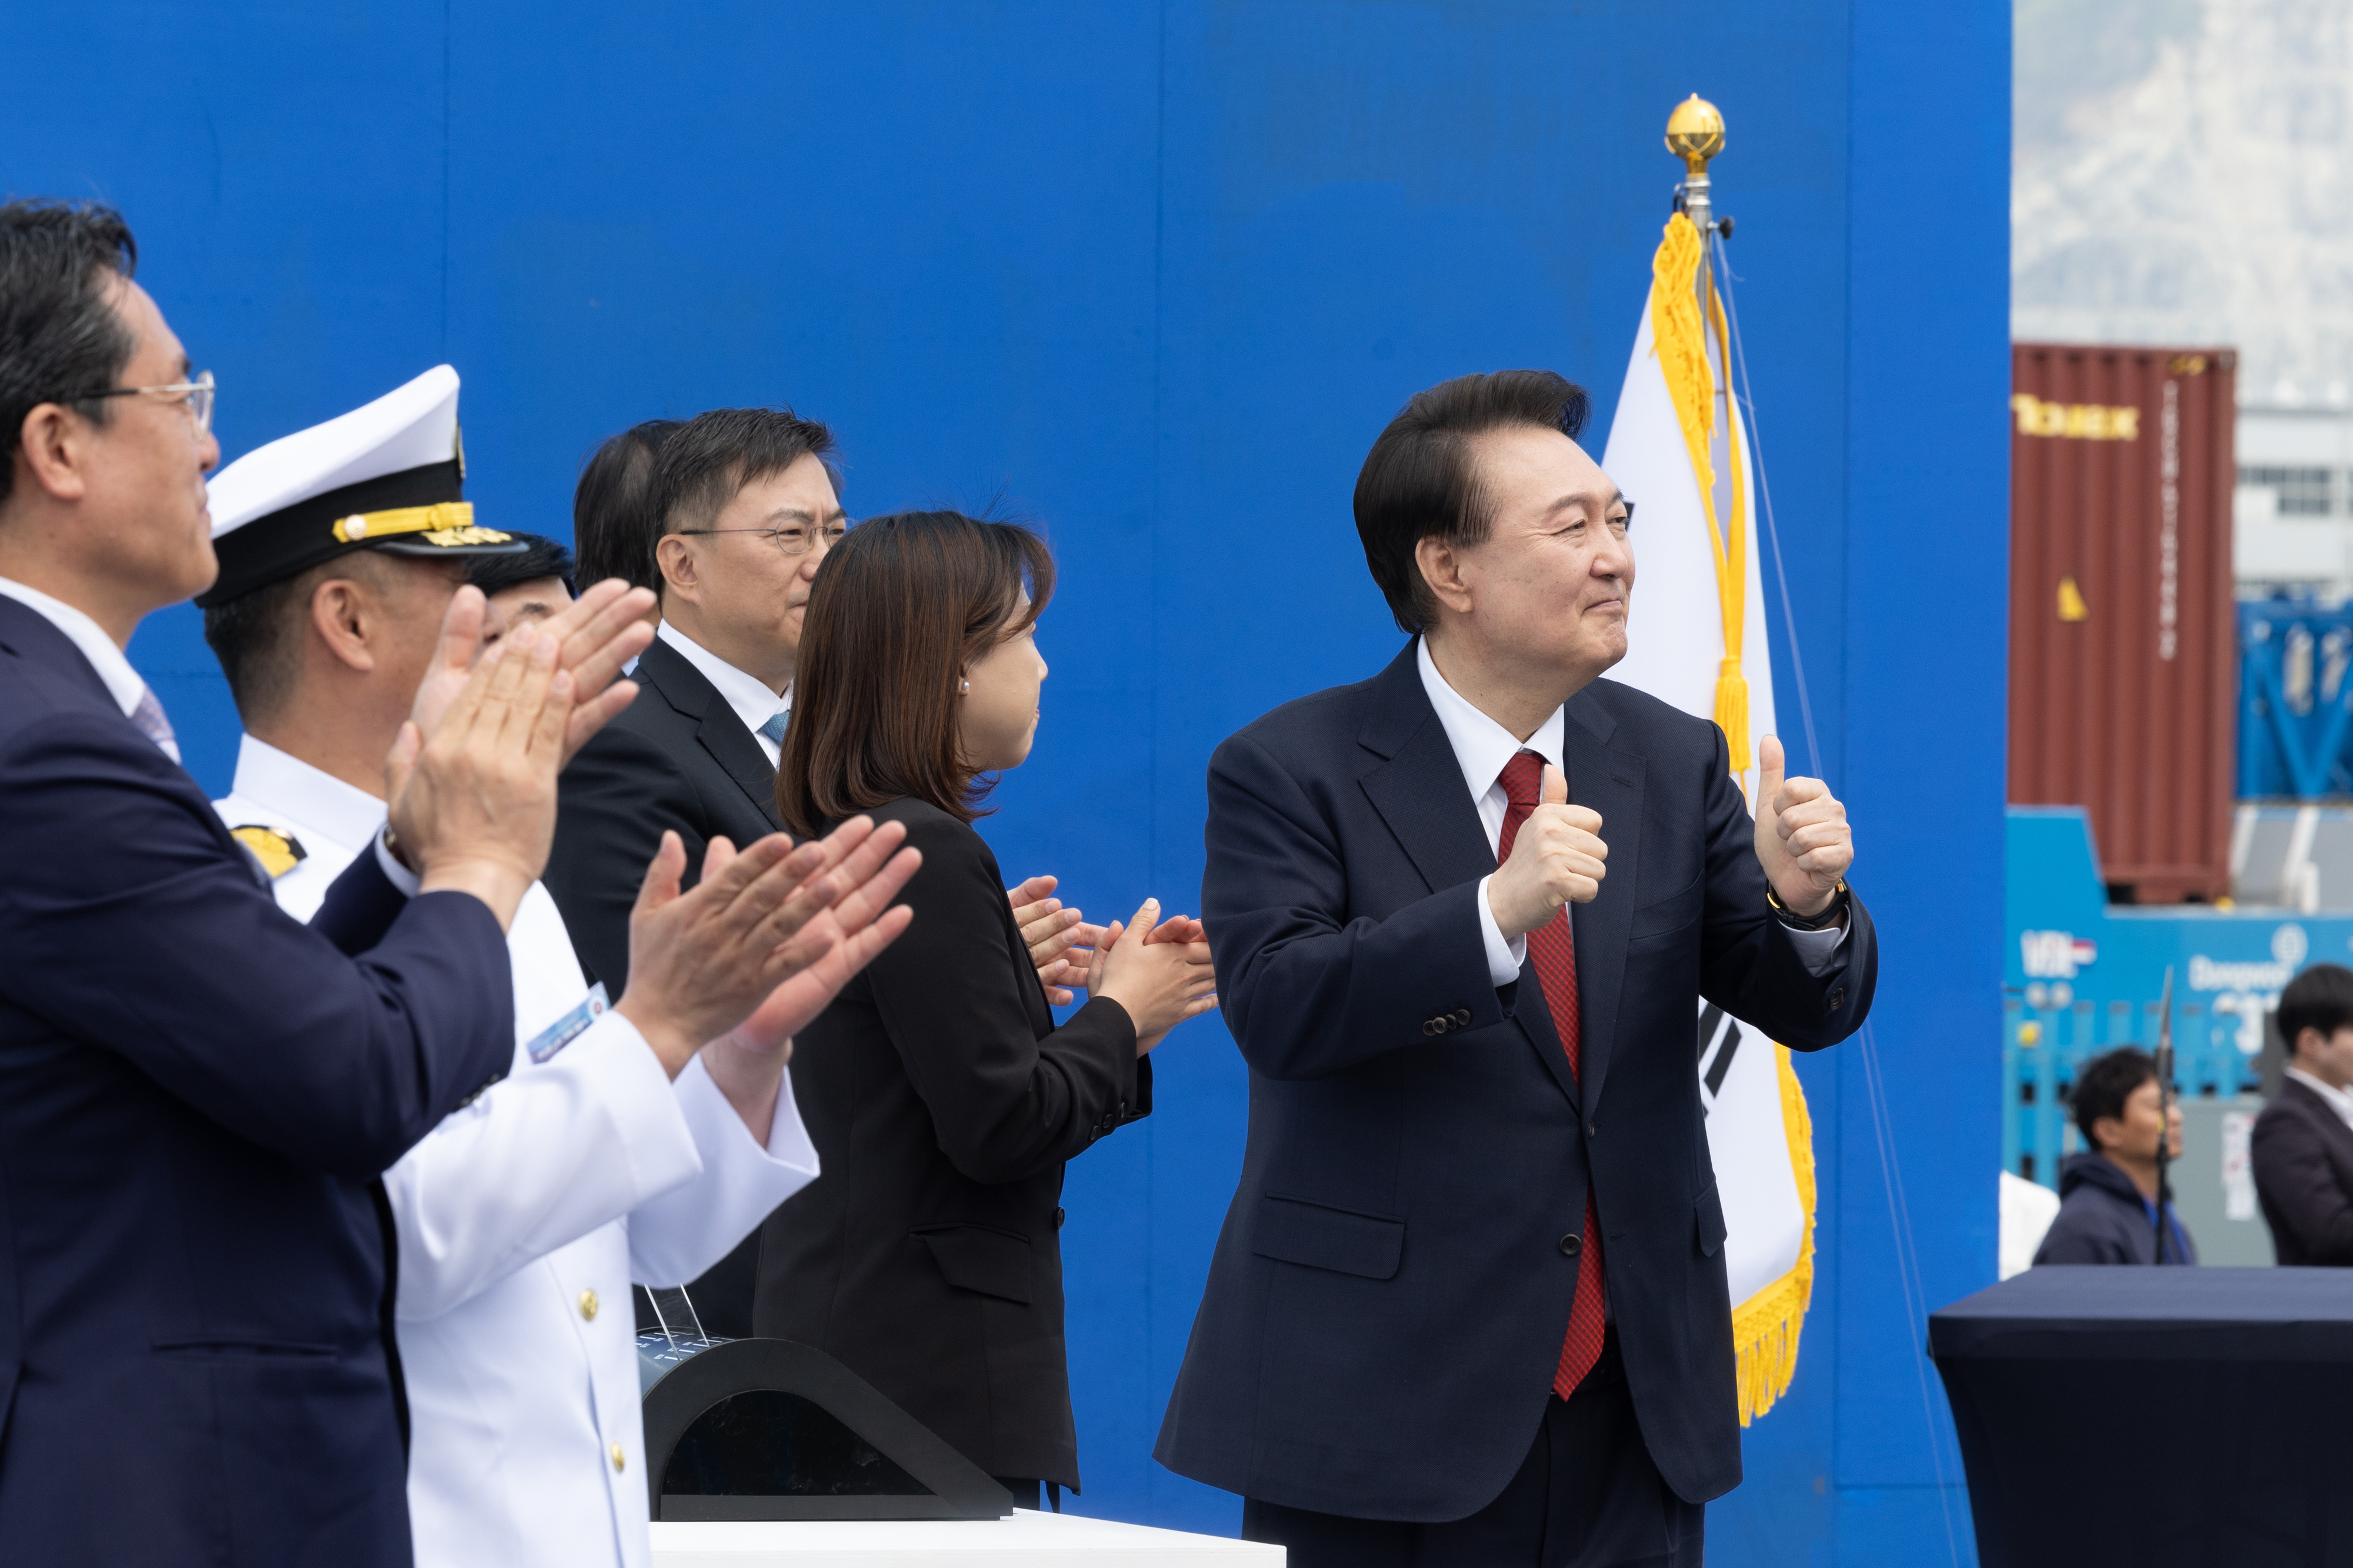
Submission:
{"label": "short black hair of the man giving two thumbs up", "polygon": [[1471,438],[1532,426],[1577,440],[1591,412],[1586,388],[1567,377],[1497,370],[1419,391],[1388,421],[1355,476],[1355,534],[1398,631],[1421,631],[1438,617],[1414,549],[1431,534],[1478,544],[1494,527],[1494,506],[1471,464]]}

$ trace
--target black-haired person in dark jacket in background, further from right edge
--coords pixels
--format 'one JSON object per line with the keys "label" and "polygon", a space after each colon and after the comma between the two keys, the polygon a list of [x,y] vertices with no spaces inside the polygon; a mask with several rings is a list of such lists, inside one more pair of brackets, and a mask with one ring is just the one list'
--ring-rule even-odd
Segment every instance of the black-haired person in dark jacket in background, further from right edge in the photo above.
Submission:
{"label": "black-haired person in dark jacket in background, further from right edge", "polygon": [[2181,1109],[2165,1104],[2158,1064],[2125,1045],[2092,1057],[2075,1074],[2075,1125],[2085,1154],[2059,1165],[2059,1217],[2035,1250],[2035,1264],[2193,1264],[2198,1248],[2181,1215],[2165,1205],[2165,1255],[2158,1257],[2158,1137],[2165,1158],[2181,1158]]}

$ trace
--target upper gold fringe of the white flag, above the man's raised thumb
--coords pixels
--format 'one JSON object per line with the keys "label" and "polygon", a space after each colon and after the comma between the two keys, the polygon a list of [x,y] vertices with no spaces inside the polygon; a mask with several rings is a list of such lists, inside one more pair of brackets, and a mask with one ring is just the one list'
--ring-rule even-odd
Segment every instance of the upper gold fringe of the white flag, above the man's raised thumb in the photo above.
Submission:
{"label": "upper gold fringe of the white flag, above the man's raised thumb", "polygon": [[1741,633],[1748,610],[1748,461],[1741,452],[1741,421],[1727,417],[1732,447],[1732,516],[1715,518],[1715,367],[1708,360],[1708,332],[1715,353],[1732,363],[1725,346],[1725,308],[1715,299],[1713,275],[1706,280],[1708,308],[1699,308],[1701,247],[1692,219],[1680,212],[1666,219],[1666,235],[1649,264],[1649,337],[1666,379],[1666,396],[1682,426],[1682,445],[1692,454],[1692,478],[1699,480],[1699,504],[1708,516],[1708,553],[1715,558],[1715,610],[1725,626],[1725,659],[1715,671],[1715,723],[1732,753],[1732,775],[1748,772],[1748,676],[1741,669]]}

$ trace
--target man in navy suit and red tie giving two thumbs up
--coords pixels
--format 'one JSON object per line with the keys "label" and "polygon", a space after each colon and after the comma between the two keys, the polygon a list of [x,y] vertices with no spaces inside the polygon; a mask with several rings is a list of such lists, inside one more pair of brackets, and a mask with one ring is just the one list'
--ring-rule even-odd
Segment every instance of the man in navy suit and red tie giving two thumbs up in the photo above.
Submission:
{"label": "man in navy suit and red tie giving two thumbs up", "polygon": [[1739,1483],[1699,998],[1800,1050],[1871,1008],[1854,841],[1762,746],[1600,680],[1631,506],[1551,372],[1381,433],[1386,671],[1209,760],[1202,921],[1242,1182],[1160,1429],[1294,1568],[1699,1563]]}

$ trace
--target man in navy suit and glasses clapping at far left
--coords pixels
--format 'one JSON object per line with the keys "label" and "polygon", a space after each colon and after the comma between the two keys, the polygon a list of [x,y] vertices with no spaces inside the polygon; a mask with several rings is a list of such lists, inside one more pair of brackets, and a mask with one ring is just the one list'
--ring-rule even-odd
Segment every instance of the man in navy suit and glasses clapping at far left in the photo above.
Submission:
{"label": "man in navy suit and glasses clapping at far left", "polygon": [[[212,379],[134,257],[0,207],[0,1561],[407,1568],[374,1177],[513,1059],[504,928],[649,596],[428,680],[391,833],[282,916],[122,652],[216,567]],[[706,885],[765,946],[795,881]]]}

